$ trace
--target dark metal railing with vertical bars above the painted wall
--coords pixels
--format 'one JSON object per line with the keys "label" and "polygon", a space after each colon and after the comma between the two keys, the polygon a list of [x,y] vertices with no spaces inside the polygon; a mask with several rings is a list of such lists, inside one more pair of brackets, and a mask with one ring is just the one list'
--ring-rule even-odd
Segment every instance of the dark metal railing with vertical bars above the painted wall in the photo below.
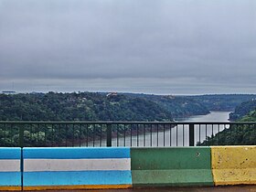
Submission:
{"label": "dark metal railing with vertical bars above the painted wall", "polygon": [[226,145],[248,131],[256,141],[255,122],[0,122],[0,146]]}

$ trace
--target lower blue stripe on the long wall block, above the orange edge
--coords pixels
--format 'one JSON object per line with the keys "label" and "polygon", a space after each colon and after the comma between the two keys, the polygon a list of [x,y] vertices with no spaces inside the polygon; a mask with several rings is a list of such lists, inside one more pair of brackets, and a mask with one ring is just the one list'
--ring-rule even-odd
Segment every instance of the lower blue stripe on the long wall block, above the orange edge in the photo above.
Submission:
{"label": "lower blue stripe on the long wall block, above the orange edge", "polygon": [[131,171],[25,172],[24,186],[132,185]]}

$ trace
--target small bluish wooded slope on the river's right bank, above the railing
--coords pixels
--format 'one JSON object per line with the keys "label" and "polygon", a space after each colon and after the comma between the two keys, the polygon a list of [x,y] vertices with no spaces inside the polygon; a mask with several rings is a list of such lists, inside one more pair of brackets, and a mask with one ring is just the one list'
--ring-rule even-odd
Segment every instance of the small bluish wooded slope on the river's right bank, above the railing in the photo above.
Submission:
{"label": "small bluish wooded slope on the river's right bank, above the railing", "polygon": [[234,112],[229,114],[229,120],[235,121],[242,118],[244,115],[248,114],[251,111],[256,110],[256,100],[242,102],[239,106],[236,107]]}

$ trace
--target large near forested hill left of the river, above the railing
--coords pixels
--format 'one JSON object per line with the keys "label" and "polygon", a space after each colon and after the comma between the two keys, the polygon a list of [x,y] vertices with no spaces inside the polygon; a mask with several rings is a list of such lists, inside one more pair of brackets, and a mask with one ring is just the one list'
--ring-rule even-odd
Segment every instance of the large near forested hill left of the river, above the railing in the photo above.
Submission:
{"label": "large near forested hill left of the river, above the railing", "polygon": [[0,120],[171,121],[171,112],[143,98],[99,93],[0,94]]}

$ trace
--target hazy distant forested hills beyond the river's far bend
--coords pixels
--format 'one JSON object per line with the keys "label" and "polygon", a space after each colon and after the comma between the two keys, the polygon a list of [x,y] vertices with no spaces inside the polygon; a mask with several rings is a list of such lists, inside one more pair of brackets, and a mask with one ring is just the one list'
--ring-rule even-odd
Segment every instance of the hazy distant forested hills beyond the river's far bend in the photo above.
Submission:
{"label": "hazy distant forested hills beyond the river's far bend", "polygon": [[126,93],[131,97],[145,98],[163,104],[174,116],[207,114],[208,111],[231,112],[241,102],[256,99],[255,94],[208,94],[194,96],[150,95]]}

